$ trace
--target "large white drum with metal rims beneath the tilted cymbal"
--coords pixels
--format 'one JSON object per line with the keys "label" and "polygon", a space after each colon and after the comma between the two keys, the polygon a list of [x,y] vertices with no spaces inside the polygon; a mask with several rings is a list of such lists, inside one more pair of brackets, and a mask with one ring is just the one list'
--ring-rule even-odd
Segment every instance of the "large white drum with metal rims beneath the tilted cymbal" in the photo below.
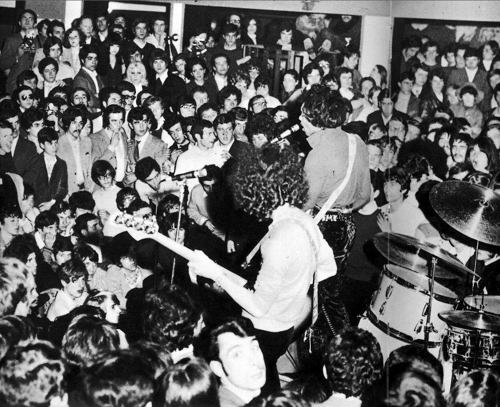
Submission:
{"label": "large white drum with metal rims beneath the tilted cymbal", "polygon": [[[383,332],[405,342],[424,341],[424,328],[430,296],[430,278],[393,264],[387,264],[380,277],[380,286],[373,293],[367,317]],[[429,346],[439,346],[446,323],[439,312],[453,309],[457,296],[434,282],[429,332]]]}

